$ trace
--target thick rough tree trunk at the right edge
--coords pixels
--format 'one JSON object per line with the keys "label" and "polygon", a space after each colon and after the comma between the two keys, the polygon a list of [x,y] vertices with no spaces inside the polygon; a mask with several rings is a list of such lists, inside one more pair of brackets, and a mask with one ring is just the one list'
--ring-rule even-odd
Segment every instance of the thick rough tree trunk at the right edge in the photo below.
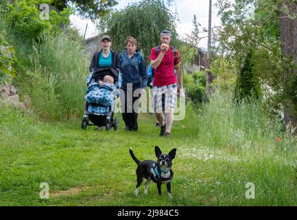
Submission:
{"label": "thick rough tree trunk at the right edge", "polygon": [[[290,2],[290,3],[289,3]],[[292,3],[290,0],[283,1],[283,5],[287,5],[290,14],[297,14],[297,3]],[[280,31],[281,31],[281,52],[286,58],[292,57],[293,61],[297,63],[297,20],[287,18],[287,14],[280,12]],[[289,64],[285,64],[285,71],[283,72],[283,92],[285,96],[284,100],[284,122],[287,126],[292,124],[296,128],[297,115],[294,104],[288,94],[289,79],[292,78],[292,74],[296,74],[296,68],[290,67]],[[297,89],[297,88],[296,88]],[[294,132],[297,135],[297,129]]]}

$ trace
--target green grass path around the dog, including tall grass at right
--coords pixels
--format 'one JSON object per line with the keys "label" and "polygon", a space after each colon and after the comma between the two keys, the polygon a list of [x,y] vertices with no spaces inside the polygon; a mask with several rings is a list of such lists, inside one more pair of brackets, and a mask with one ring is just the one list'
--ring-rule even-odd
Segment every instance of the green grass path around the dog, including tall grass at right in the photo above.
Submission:
{"label": "green grass path around the dog, including tall grass at right", "polygon": [[[82,131],[80,121],[40,122],[1,104],[0,205],[296,206],[296,139],[263,123],[257,104],[228,106],[222,94],[211,100],[199,111],[187,107],[170,138],[158,137],[149,114],[139,115],[137,133],[123,131],[122,120],[118,132],[108,133],[92,126]],[[165,186],[158,196],[155,184],[147,196],[143,186],[139,198],[134,195],[136,164],[128,150],[156,159],[155,145],[167,153],[177,148],[172,199]],[[42,182],[49,184],[49,199],[39,198]],[[247,182],[255,199],[245,197]]]}

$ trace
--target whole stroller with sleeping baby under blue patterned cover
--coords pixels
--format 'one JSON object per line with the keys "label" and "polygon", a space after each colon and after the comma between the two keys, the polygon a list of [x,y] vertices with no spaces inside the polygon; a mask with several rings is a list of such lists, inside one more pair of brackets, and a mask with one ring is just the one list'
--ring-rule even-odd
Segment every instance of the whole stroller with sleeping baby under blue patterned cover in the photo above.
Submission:
{"label": "whole stroller with sleeping baby under blue patterned cover", "polygon": [[[117,131],[119,119],[113,115],[115,111],[115,89],[119,85],[119,75],[112,68],[95,69],[86,80],[88,89],[86,91],[86,104],[82,119],[82,129],[88,125],[111,127]],[[117,93],[119,94],[119,93]],[[93,124],[89,123],[89,120]]]}

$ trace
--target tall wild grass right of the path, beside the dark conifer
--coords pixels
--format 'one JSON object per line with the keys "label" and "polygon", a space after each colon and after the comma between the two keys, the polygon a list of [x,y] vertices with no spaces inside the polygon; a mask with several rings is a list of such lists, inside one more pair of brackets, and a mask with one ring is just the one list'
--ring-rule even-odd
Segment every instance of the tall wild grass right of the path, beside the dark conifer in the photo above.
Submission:
{"label": "tall wild grass right of the path, beside the dark conifer", "polygon": [[283,124],[270,120],[257,100],[238,104],[232,94],[216,90],[200,111],[198,139],[206,146],[260,155],[296,153],[296,138]]}

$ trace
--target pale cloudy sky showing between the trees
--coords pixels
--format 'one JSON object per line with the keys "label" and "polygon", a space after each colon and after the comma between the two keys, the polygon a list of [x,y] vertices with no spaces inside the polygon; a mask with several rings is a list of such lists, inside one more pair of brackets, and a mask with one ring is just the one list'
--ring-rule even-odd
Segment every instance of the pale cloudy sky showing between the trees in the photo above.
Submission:
{"label": "pale cloudy sky showing between the trees", "polygon": [[[128,3],[134,3],[139,0],[119,0],[119,4],[115,7],[117,10],[125,8]],[[215,3],[216,0],[213,0]],[[175,5],[170,8],[172,11],[177,10],[180,21],[177,23],[177,32],[180,38],[185,38],[185,34],[190,34],[193,30],[193,18],[194,14],[197,17],[197,22],[202,25],[203,28],[208,28],[209,22],[209,0],[176,0]],[[86,30],[86,24],[88,28],[86,30],[86,39],[97,35],[95,24],[88,19],[82,19],[76,15],[70,17],[73,26],[78,28],[80,33],[84,35]],[[212,12],[212,26],[219,25],[219,17],[217,17],[217,9],[213,6]],[[206,36],[207,33],[202,33],[201,36]],[[200,41],[199,47],[207,47],[207,38]]]}

